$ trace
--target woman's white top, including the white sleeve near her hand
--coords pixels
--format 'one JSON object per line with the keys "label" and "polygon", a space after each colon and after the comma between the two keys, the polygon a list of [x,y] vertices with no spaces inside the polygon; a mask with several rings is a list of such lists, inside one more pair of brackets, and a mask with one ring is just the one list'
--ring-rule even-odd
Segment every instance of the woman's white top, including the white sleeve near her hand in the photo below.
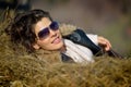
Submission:
{"label": "woman's white top, including the white sleeve near her hand", "polygon": [[[86,34],[86,36],[95,44],[98,45],[97,35]],[[76,63],[88,63],[94,62],[93,52],[81,45],[74,44],[69,39],[63,39],[67,50],[64,54],[71,57]]]}

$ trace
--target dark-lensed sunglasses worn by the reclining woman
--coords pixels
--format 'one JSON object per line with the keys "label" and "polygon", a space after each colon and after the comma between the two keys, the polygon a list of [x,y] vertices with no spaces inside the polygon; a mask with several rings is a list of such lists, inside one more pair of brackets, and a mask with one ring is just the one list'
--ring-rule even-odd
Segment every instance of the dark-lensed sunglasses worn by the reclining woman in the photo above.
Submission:
{"label": "dark-lensed sunglasses worn by the reclining woman", "polygon": [[46,27],[46,28],[43,28],[39,33],[38,33],[38,37],[39,39],[44,39],[46,37],[49,36],[50,32],[49,29],[51,30],[58,30],[59,29],[59,25],[57,22],[52,22],[49,27]]}

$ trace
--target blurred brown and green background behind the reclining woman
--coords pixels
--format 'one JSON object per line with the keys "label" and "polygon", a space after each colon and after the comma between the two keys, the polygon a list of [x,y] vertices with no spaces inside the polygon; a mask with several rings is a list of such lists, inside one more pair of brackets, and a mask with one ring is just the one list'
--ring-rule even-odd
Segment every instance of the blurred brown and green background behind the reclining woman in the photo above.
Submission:
{"label": "blurred brown and green background behind the reclining woman", "polygon": [[131,57],[131,0],[0,0],[1,16],[7,9],[43,9],[58,22],[106,37],[117,52]]}

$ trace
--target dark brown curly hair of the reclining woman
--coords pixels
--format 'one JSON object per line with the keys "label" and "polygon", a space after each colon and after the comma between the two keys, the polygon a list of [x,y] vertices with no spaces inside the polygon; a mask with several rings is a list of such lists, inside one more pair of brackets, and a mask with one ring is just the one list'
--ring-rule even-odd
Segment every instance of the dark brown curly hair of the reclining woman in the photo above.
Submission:
{"label": "dark brown curly hair of the reclining woman", "polygon": [[5,33],[11,36],[13,44],[20,44],[28,52],[33,52],[35,50],[33,44],[36,41],[34,27],[43,17],[48,17],[52,21],[49,13],[43,10],[31,10],[25,13],[19,13],[5,28]]}

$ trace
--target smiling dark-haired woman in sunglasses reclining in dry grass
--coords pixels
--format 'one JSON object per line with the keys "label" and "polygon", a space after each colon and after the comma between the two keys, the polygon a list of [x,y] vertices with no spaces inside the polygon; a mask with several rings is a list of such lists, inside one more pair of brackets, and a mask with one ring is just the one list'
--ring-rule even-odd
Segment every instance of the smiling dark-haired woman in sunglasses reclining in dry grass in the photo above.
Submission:
{"label": "smiling dark-haired woman in sunglasses reclining in dry grass", "polygon": [[[15,46],[23,45],[28,52],[35,52],[37,58],[47,59],[49,62],[56,59],[78,63],[94,61],[93,50],[81,42],[75,42],[76,33],[80,38],[88,37],[105,51],[111,48],[106,38],[87,34],[83,36],[83,30],[72,25],[57,23],[43,10],[17,14],[5,32],[11,36],[11,41],[16,44]],[[70,38],[71,35],[74,39]]]}

